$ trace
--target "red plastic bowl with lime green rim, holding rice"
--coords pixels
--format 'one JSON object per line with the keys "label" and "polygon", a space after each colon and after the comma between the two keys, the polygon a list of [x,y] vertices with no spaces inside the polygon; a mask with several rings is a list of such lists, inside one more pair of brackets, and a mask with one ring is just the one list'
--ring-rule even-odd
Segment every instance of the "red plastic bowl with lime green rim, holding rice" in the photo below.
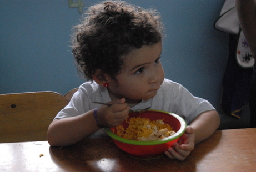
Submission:
{"label": "red plastic bowl with lime green rim, holding rice", "polygon": [[[182,117],[162,110],[151,109],[144,113],[130,112],[129,118],[132,117],[149,118],[150,120],[163,119],[163,122],[169,124],[176,132],[174,135],[160,140],[137,141],[118,136],[116,127],[105,128],[107,134],[111,136],[118,148],[122,149],[133,158],[138,159],[154,159],[164,155],[164,152],[168,150],[169,147],[173,146],[173,144],[179,140],[180,136],[184,134],[185,128],[187,127]],[[122,124],[124,128],[127,128],[129,125],[126,120]]]}

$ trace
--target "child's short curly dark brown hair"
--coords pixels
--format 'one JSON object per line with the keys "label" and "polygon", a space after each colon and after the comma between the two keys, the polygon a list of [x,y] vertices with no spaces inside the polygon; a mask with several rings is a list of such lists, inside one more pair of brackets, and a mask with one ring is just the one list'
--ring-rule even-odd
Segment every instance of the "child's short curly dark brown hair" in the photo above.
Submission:
{"label": "child's short curly dark brown hair", "polygon": [[160,15],[122,1],[104,1],[88,8],[71,39],[78,69],[88,80],[96,69],[113,79],[123,64],[120,57],[134,48],[162,39]]}

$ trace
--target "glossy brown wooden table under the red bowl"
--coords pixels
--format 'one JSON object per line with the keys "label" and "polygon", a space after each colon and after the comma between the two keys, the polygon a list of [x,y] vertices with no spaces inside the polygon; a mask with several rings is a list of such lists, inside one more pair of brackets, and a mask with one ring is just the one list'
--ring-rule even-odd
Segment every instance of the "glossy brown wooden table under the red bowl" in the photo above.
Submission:
{"label": "glossy brown wooden table under the red bowl", "polygon": [[[43,154],[43,156],[39,156]],[[56,148],[47,141],[0,144],[0,171],[255,171],[256,128],[218,130],[184,161],[130,158],[109,138]]]}

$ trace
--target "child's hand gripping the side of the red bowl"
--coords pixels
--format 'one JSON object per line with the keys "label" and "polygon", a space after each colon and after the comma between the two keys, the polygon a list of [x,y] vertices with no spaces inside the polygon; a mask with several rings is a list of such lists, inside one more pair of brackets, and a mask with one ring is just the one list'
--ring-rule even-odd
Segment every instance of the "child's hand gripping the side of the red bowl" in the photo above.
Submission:
{"label": "child's hand gripping the side of the red bowl", "polygon": [[169,148],[167,151],[165,151],[165,155],[167,155],[170,159],[178,159],[183,161],[194,149],[194,146],[194,129],[188,126],[185,129],[185,133],[180,137],[178,143],[174,143],[173,148]]}

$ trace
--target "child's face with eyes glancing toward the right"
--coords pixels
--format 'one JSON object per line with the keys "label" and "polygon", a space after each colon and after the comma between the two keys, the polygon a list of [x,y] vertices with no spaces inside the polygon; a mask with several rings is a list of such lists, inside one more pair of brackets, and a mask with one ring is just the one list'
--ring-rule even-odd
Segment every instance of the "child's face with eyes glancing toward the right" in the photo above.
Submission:
{"label": "child's face with eyes glancing toward the right", "polygon": [[134,49],[122,57],[121,73],[109,82],[109,94],[113,98],[147,100],[157,94],[164,80],[164,70],[160,62],[162,42]]}

